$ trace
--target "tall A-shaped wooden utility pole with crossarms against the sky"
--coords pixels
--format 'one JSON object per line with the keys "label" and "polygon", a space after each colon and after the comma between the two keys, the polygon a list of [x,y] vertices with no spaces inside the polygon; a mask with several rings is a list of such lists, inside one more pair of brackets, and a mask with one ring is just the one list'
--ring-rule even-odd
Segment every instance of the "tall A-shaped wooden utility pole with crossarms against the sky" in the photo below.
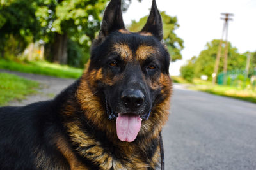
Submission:
{"label": "tall A-shaped wooden utility pole with crossarms against the sky", "polygon": [[220,45],[218,48],[218,53],[217,53],[217,57],[216,57],[216,61],[215,61],[214,73],[212,74],[212,84],[216,83],[216,78],[217,78],[218,69],[219,69],[219,65],[220,65],[220,57],[221,57],[224,34],[225,34],[224,84],[226,84],[227,60],[228,60],[228,21],[232,20],[232,18],[229,18],[229,17],[233,16],[233,14],[232,13],[221,13],[221,15],[225,16],[225,18],[221,18],[221,20],[225,20],[225,22],[224,22]]}

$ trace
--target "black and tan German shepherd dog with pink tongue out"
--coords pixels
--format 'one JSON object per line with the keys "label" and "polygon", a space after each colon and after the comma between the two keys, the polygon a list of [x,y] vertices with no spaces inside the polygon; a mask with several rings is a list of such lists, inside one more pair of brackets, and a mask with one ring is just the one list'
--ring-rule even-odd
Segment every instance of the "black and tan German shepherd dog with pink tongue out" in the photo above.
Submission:
{"label": "black and tan German shepherd dog with pink tongue out", "polygon": [[111,0],[79,80],[55,99],[0,108],[0,169],[156,169],[172,81],[161,15],[129,32]]}

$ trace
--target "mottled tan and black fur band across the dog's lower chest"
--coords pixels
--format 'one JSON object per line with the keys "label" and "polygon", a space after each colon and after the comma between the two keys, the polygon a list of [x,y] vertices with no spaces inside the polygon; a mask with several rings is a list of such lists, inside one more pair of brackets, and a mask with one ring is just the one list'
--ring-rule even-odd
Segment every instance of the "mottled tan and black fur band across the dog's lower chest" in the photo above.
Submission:
{"label": "mottled tan and black fur band across the dog's lower chest", "polygon": [[[95,162],[95,164],[100,165],[100,169],[146,169],[149,167],[148,164],[145,164],[141,159],[140,155],[138,155],[138,152],[136,151],[135,145],[129,146],[127,143],[120,143],[120,149],[122,149],[122,153],[125,153],[125,155],[132,155],[131,157],[127,157],[129,159],[128,162],[119,162],[117,160],[113,160],[113,157],[100,145],[100,143],[97,143],[95,139],[92,136],[89,136],[89,134],[84,134],[81,132],[81,129],[77,126],[79,122],[71,122],[67,124],[68,132],[71,134],[71,139],[74,142],[74,145],[79,145],[77,148],[77,152],[79,152],[82,156],[86,157],[87,159],[91,160],[92,162]],[[90,145],[93,145],[93,147],[90,148]],[[83,150],[83,148],[88,148],[86,150]]]}

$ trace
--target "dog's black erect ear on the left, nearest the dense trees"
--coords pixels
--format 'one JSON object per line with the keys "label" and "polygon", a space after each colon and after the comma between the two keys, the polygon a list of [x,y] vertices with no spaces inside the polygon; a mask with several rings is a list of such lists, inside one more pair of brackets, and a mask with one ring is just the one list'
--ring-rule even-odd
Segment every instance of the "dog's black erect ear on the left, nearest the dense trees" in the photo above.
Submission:
{"label": "dog's black erect ear on the left, nearest the dense trees", "polygon": [[121,10],[121,0],[111,0],[104,11],[100,35],[108,36],[112,31],[125,29]]}

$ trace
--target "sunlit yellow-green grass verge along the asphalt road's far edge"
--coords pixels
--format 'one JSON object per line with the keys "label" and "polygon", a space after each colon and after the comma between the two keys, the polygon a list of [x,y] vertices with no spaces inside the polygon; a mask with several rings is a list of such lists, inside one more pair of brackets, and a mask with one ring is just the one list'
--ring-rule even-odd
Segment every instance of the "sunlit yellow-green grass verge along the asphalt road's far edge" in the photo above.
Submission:
{"label": "sunlit yellow-green grass verge along the asphalt road's far edge", "polygon": [[256,103],[256,91],[253,91],[252,89],[241,89],[224,85],[212,85],[211,82],[200,79],[194,79],[192,83],[189,83],[180,77],[172,77],[172,79],[175,83],[188,84],[188,88],[191,90],[198,90],[219,96],[227,96]]}

